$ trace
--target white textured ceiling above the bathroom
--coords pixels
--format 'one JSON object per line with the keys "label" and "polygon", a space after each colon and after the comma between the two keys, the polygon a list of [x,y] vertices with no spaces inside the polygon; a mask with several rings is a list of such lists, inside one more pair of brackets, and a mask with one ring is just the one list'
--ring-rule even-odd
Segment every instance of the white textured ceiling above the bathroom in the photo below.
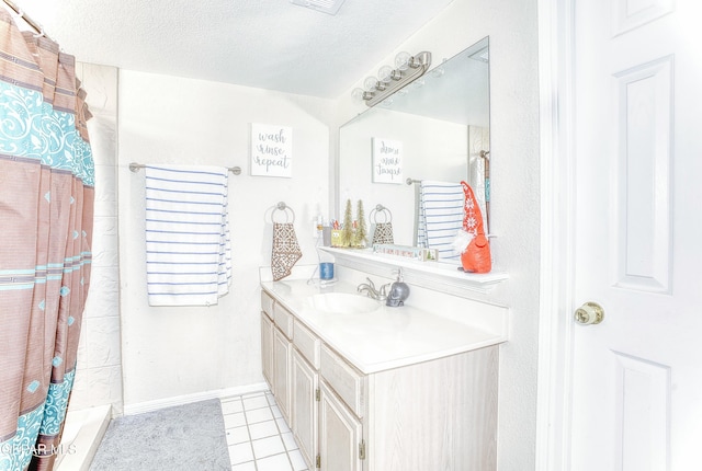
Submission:
{"label": "white textured ceiling above the bathroom", "polygon": [[14,0],[77,60],[337,97],[453,0]]}

